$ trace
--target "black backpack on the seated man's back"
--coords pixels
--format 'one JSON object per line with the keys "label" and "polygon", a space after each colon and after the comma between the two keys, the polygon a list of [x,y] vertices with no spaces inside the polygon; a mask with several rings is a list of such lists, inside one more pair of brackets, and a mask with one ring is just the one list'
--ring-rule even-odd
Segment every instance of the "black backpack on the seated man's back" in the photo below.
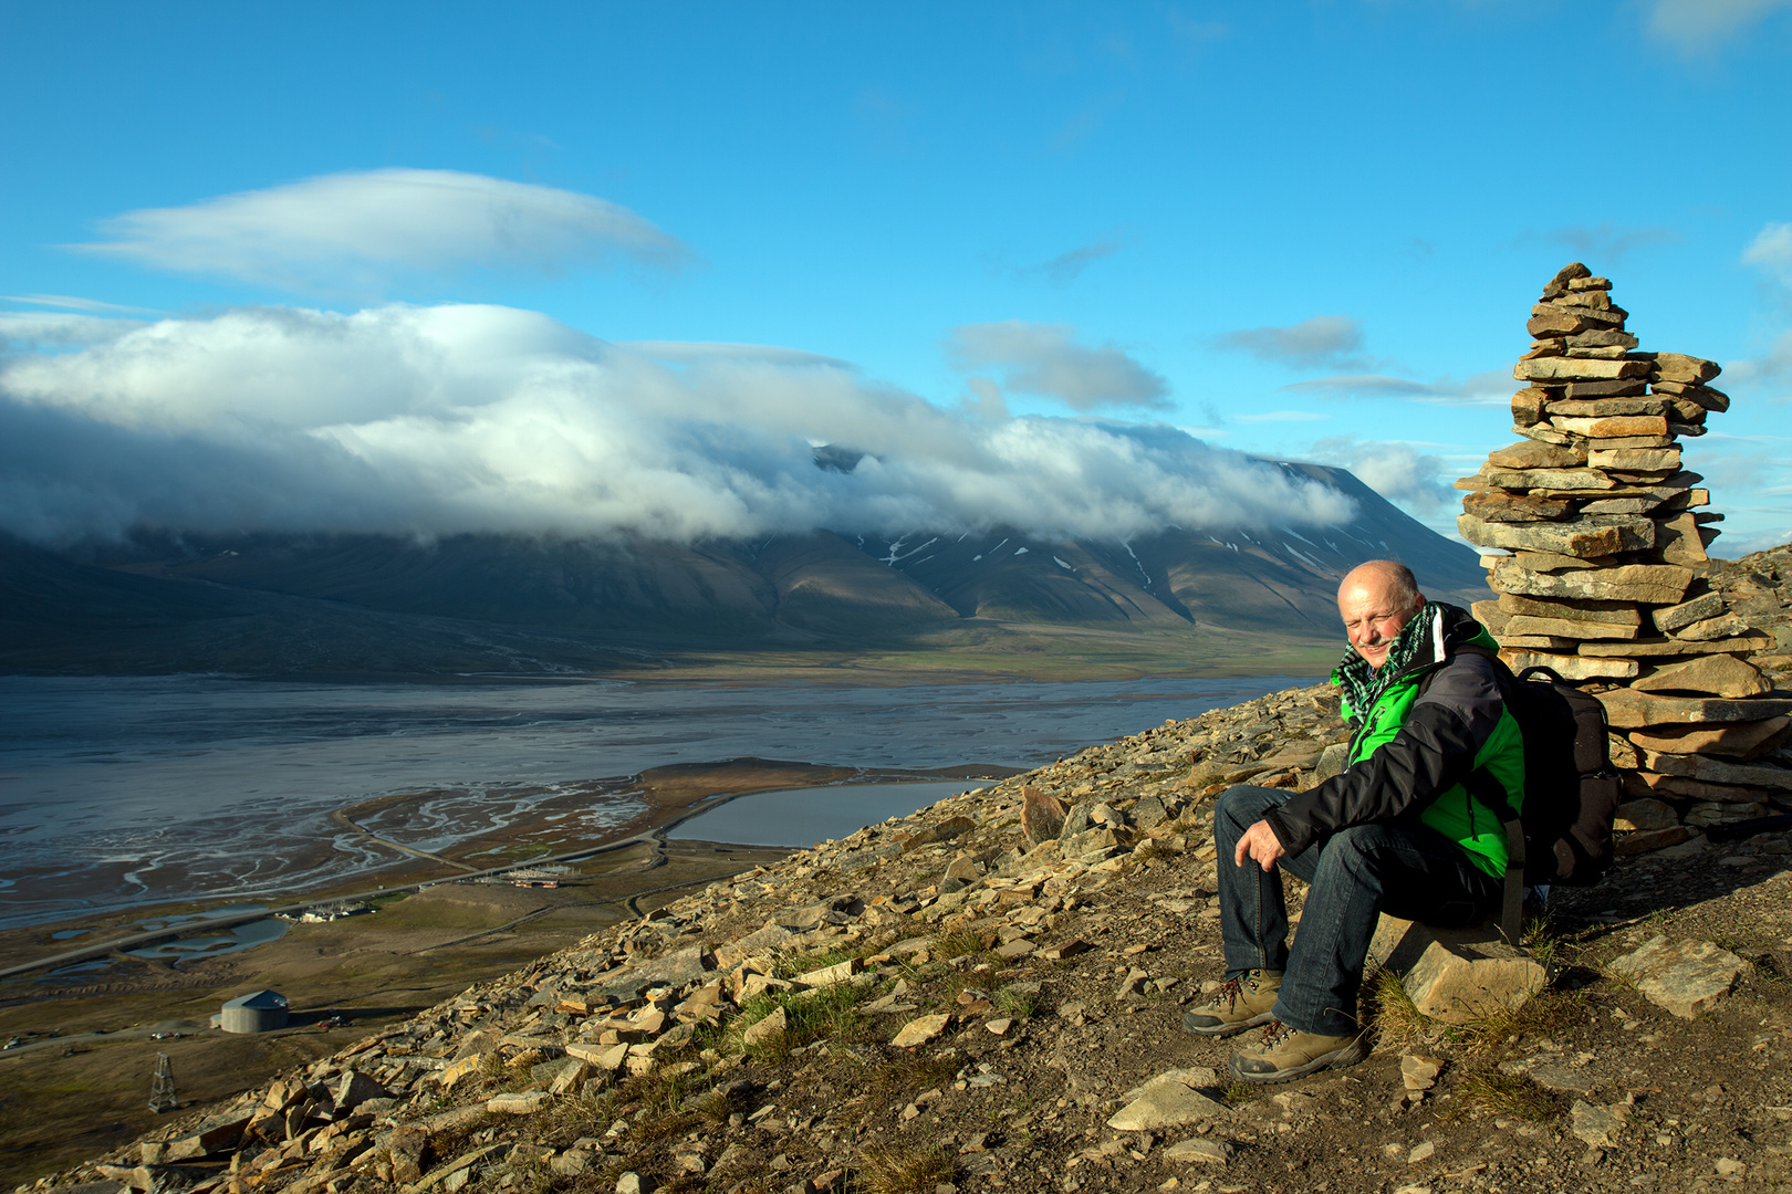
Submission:
{"label": "black backpack on the seated man's back", "polygon": [[1516,942],[1525,886],[1590,888],[1611,870],[1611,822],[1624,789],[1611,766],[1606,707],[1597,696],[1550,668],[1512,675],[1489,650],[1459,646],[1457,652],[1493,661],[1500,696],[1525,738],[1525,804],[1518,816],[1505,800],[1505,788],[1486,768],[1464,780],[1475,798],[1500,811],[1505,822],[1509,857],[1502,925]]}

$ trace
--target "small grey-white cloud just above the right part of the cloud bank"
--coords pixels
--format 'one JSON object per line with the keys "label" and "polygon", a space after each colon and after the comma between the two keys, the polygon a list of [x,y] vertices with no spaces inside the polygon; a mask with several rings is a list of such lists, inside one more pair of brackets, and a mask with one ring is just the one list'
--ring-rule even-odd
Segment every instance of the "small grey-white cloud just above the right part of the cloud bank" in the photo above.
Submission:
{"label": "small grey-white cloud just above the right part of the cloud bank", "polygon": [[1118,347],[1077,344],[1068,324],[1011,319],[953,328],[946,354],[966,371],[995,369],[1016,394],[1055,397],[1072,410],[1168,406],[1170,385]]}

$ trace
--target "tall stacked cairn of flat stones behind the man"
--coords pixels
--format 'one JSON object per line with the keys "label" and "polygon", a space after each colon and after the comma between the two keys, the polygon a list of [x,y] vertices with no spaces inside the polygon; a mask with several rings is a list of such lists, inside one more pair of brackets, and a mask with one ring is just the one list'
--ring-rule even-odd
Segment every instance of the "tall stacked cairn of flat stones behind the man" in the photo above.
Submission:
{"label": "tall stacked cairn of flat stones behind the man", "polygon": [[[1579,261],[1530,308],[1512,430],[1457,526],[1487,550],[1498,600],[1475,616],[1514,669],[1543,664],[1600,696],[1629,802],[1620,852],[1792,807],[1792,693],[1751,662],[1769,634],[1727,609],[1706,546],[1722,514],[1681,467],[1681,437],[1729,408],[1713,362],[1643,353],[1611,283]],[[1690,847],[1693,849],[1693,847]]]}

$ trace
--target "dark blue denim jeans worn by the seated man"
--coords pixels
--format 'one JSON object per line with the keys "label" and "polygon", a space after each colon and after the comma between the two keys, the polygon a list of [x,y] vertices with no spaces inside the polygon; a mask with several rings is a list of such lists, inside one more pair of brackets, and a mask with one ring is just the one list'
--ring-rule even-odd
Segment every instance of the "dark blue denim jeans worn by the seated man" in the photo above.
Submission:
{"label": "dark blue denim jeans worn by the seated man", "polygon": [[1417,820],[1351,825],[1278,863],[1312,884],[1290,951],[1281,874],[1251,857],[1233,865],[1244,831],[1290,795],[1238,786],[1215,806],[1226,977],[1281,970],[1276,1019],[1303,1033],[1344,1036],[1357,1031],[1357,988],[1380,913],[1439,927],[1473,924],[1498,909],[1502,881]]}

